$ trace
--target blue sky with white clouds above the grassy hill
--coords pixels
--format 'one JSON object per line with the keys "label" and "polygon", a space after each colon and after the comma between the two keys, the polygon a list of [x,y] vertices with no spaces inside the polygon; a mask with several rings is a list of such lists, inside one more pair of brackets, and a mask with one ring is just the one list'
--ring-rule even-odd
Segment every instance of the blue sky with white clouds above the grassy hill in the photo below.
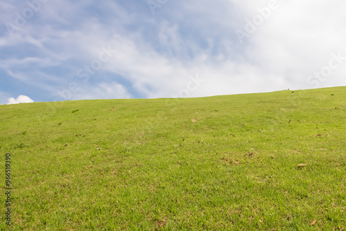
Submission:
{"label": "blue sky with white clouds above the grassy hill", "polygon": [[0,6],[0,104],[346,85],[343,0]]}

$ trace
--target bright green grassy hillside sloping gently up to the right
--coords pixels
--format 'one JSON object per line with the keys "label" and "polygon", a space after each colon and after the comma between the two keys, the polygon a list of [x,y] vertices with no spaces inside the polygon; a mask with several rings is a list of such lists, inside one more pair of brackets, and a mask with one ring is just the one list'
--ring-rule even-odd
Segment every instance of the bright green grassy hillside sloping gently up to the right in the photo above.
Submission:
{"label": "bright green grassy hillside sloping gently up to the right", "polygon": [[346,230],[346,87],[0,105],[0,121],[1,230]]}

